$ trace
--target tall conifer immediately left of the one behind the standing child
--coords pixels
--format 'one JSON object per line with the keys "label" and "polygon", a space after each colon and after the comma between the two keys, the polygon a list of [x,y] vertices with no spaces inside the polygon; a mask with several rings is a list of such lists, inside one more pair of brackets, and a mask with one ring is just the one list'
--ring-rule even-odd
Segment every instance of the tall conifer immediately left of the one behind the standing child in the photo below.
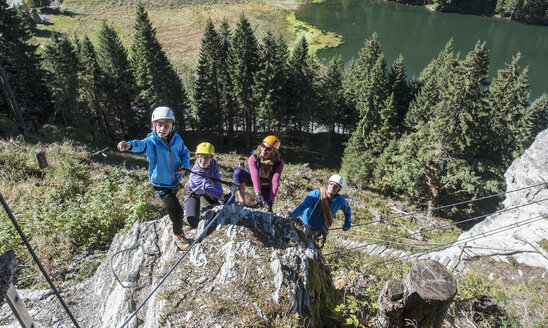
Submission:
{"label": "tall conifer immediately left of the one behind the standing child", "polygon": [[103,72],[102,90],[107,122],[116,139],[137,137],[132,108],[135,79],[128,53],[116,31],[103,22],[98,35],[97,62]]}

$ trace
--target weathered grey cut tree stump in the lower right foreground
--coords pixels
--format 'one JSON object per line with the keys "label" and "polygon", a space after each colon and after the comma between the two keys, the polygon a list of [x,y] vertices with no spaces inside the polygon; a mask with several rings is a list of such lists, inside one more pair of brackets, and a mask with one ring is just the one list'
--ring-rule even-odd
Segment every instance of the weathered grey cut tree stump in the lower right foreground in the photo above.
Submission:
{"label": "weathered grey cut tree stump in the lower right foreground", "polygon": [[443,265],[421,260],[411,266],[403,283],[391,279],[379,295],[382,328],[439,328],[457,294],[457,282]]}

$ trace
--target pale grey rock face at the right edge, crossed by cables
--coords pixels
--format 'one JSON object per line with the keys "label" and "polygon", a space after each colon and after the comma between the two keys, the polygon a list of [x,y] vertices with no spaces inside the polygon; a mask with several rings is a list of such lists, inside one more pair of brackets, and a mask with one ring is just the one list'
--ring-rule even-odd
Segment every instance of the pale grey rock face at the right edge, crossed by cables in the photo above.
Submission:
{"label": "pale grey rock face at the right edge, crossed by cables", "polygon": [[[548,239],[548,130],[512,163],[505,177],[504,208],[515,209],[487,217],[459,236],[458,246],[431,255],[463,259],[485,255],[503,261],[512,257],[548,269],[548,252],[540,246]],[[518,189],[524,190],[511,192]]]}

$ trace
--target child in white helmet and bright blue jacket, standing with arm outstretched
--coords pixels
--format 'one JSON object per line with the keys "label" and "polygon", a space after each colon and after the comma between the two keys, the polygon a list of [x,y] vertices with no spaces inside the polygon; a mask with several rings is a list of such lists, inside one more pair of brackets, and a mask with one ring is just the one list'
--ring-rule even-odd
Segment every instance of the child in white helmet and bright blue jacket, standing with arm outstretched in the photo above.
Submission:
{"label": "child in white helmet and bright blue jacket, standing with arm outstretched", "polygon": [[148,177],[173,223],[173,240],[181,250],[187,250],[190,244],[183,231],[183,208],[177,199],[183,175],[177,170],[190,168],[189,151],[175,130],[175,114],[169,107],[154,109],[151,122],[152,132],[145,139],[120,141],[118,150],[147,156]]}

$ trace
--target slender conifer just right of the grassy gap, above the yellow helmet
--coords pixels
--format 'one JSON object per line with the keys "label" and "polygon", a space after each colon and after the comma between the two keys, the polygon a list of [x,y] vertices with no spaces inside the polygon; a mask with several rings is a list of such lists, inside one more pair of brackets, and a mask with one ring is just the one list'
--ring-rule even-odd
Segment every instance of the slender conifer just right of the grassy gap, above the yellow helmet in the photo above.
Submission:
{"label": "slender conifer just right of the grassy gap, above the yellow helmet", "polygon": [[220,39],[213,21],[208,19],[198,59],[198,79],[195,89],[195,104],[201,130],[223,131],[222,85],[219,76]]}

